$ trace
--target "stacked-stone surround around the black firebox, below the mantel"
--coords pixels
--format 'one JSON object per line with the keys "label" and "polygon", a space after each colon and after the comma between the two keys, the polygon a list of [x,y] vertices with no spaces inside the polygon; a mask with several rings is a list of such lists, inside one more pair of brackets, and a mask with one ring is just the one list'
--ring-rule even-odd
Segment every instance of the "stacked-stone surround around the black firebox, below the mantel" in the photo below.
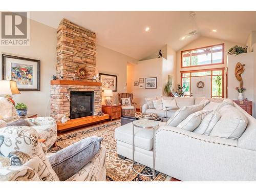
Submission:
{"label": "stacked-stone surround around the black firebox, below the mantel", "polygon": [[101,111],[101,86],[51,85],[51,116],[58,122],[70,114],[71,91],[94,91],[94,115]]}

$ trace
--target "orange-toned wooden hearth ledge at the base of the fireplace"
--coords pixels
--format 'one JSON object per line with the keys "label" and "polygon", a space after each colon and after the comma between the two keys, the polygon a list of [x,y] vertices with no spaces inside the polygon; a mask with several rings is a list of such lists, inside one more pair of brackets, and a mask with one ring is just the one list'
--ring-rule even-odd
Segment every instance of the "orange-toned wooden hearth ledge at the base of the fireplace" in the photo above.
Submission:
{"label": "orange-toned wooden hearth ledge at the base of the fireplace", "polygon": [[106,120],[109,118],[110,118],[110,115],[103,114],[102,116],[92,115],[92,116],[88,116],[88,117],[71,119],[66,123],[57,122],[57,130],[59,132],[66,131],[68,129],[73,129],[78,126],[88,125],[90,123],[95,123],[95,122]]}

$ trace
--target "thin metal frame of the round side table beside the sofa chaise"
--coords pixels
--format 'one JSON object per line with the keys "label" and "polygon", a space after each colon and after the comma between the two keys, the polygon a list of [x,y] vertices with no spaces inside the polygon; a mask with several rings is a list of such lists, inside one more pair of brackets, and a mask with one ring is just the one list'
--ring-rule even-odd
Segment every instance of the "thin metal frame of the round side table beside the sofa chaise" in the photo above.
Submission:
{"label": "thin metal frame of the round side table beside the sofa chaise", "polygon": [[[136,120],[136,121],[139,121],[139,120]],[[147,121],[153,121],[153,120],[147,120]],[[155,172],[156,172],[156,170],[155,170],[155,161],[156,161],[156,156],[155,156],[155,131],[156,131],[156,128],[158,128],[159,127],[159,122],[158,122],[158,125],[156,125],[156,126],[139,126],[139,125],[135,125],[134,124],[134,122],[135,121],[133,121],[133,170],[134,170],[134,172],[136,172],[137,174],[139,174],[139,175],[141,175],[141,176],[146,176],[146,177],[154,177],[155,178]],[[154,122],[156,122],[156,121],[154,121]],[[138,127],[138,128],[142,128],[142,129],[153,129],[153,174],[152,175],[144,175],[144,174],[141,174],[141,173],[138,173],[136,170],[135,170],[135,168],[134,168],[134,163],[135,163],[135,161],[134,161],[134,149],[135,149],[135,146],[134,146],[134,127]]]}

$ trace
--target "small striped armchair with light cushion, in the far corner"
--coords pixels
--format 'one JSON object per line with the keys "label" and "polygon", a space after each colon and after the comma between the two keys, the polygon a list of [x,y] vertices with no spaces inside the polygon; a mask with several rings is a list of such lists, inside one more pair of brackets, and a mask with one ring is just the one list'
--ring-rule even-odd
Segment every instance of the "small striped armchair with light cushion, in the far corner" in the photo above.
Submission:
{"label": "small striped armchair with light cushion, in the far corner", "polygon": [[[122,98],[130,98],[131,99],[131,104],[124,104],[124,102],[122,102]],[[136,112],[136,104],[135,102],[133,102],[133,94],[132,93],[118,93],[118,100],[119,103],[122,104],[122,115],[132,115],[135,114]]]}

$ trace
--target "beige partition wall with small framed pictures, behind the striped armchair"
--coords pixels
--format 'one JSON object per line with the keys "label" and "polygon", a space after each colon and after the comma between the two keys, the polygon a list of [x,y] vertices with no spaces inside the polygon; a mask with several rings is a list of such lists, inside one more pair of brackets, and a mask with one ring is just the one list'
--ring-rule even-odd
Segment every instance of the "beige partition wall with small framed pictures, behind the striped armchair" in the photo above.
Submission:
{"label": "beige partition wall with small framed pictures, behind the striped armchair", "polygon": [[[163,66],[167,65],[165,58],[155,58],[149,60],[138,61],[137,65],[129,65],[127,67],[127,77],[131,79],[127,92],[134,94],[134,102],[137,103],[137,108],[144,104],[145,97],[156,97],[163,94]],[[139,78],[157,77],[157,89],[139,89],[139,86],[134,86],[134,81],[139,81]],[[128,80],[127,80],[128,82]]]}

